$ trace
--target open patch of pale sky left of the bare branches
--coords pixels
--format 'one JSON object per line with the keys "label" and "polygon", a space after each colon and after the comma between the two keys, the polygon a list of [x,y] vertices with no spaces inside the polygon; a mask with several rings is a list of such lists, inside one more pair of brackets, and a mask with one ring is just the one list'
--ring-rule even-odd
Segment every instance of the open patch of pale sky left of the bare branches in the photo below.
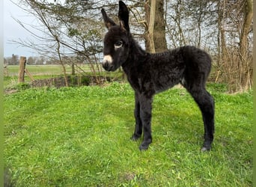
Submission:
{"label": "open patch of pale sky left of the bare branches", "polygon": [[[18,0],[13,1],[18,2]],[[33,49],[20,46],[11,41],[34,40],[34,37],[31,37],[31,34],[13,18],[27,24],[37,24],[37,20],[33,16],[29,16],[28,13],[13,4],[12,1],[4,0],[4,58],[11,57],[13,54],[26,57],[37,56],[37,52],[33,51]]]}

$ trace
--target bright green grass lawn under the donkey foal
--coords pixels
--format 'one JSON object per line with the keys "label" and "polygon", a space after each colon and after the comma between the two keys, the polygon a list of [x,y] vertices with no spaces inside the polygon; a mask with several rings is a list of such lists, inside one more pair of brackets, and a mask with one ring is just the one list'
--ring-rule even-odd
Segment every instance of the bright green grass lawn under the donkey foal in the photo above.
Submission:
{"label": "bright green grass lawn under the donkey foal", "polygon": [[185,90],[155,96],[153,143],[139,151],[133,91],[40,88],[4,96],[4,162],[16,186],[252,186],[252,93],[216,100],[213,149],[201,153],[203,123]]}

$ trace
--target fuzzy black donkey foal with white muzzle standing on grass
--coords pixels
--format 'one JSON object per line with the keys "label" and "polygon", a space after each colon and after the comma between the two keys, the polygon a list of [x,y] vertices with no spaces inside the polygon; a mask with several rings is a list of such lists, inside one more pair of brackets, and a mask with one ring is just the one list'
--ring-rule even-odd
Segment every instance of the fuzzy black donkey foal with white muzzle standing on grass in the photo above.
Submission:
{"label": "fuzzy black donkey foal with white muzzle standing on grass", "polygon": [[147,150],[152,142],[153,96],[180,83],[201,109],[204,121],[204,144],[201,150],[210,150],[214,133],[214,100],[205,88],[211,68],[210,56],[194,46],[182,46],[156,54],[147,53],[132,38],[129,10],[123,1],[119,1],[120,25],[110,19],[104,9],[101,13],[108,28],[103,41],[103,68],[115,71],[122,67],[135,91],[135,131],[131,139],[138,140],[143,130],[144,138],[139,149]]}

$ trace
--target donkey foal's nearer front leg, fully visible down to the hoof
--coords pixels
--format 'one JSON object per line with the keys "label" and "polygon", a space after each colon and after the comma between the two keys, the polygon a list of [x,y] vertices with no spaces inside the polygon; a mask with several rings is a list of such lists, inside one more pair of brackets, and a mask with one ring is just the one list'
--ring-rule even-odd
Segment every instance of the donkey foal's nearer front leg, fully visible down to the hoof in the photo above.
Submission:
{"label": "donkey foal's nearer front leg, fully visible down to the hoof", "polygon": [[140,116],[144,131],[144,138],[139,147],[140,150],[147,150],[148,146],[152,142],[151,136],[151,111],[152,111],[152,97],[140,96]]}

